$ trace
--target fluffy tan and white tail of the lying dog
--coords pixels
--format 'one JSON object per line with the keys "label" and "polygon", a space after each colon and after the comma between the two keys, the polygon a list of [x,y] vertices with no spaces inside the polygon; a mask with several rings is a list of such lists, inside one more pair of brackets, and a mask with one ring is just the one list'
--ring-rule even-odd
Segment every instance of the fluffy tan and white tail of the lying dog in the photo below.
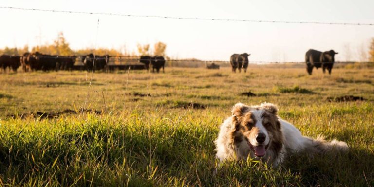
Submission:
{"label": "fluffy tan and white tail of the lying dog", "polygon": [[305,137],[305,150],[309,152],[316,153],[344,153],[349,150],[347,143],[337,141],[336,139],[332,141],[326,141],[322,135],[319,135],[316,139]]}

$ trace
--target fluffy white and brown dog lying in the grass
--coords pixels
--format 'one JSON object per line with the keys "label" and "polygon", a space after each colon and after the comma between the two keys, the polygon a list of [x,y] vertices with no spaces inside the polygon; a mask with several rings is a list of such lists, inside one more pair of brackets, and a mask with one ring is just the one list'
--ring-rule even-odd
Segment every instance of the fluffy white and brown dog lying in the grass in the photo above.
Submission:
{"label": "fluffy white and brown dog lying in the grass", "polygon": [[322,136],[312,139],[287,121],[277,116],[278,109],[271,103],[247,106],[238,103],[232,116],[221,125],[216,144],[220,161],[253,158],[276,167],[287,154],[340,152],[348,150],[347,143],[325,141]]}

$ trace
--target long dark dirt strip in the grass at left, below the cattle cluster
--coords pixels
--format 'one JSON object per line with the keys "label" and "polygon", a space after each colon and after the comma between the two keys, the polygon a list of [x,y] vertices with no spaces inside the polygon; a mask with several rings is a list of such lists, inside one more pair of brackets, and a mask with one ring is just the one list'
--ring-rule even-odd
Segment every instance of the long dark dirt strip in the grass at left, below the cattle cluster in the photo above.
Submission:
{"label": "long dark dirt strip in the grass at left, below the cattle cluster", "polygon": [[[74,111],[74,110],[70,110],[70,109],[66,109],[66,110],[63,110],[63,111],[60,111],[60,112],[51,112],[51,113],[47,113],[47,112],[40,112],[40,111],[37,111],[37,112],[34,112],[34,113],[20,113],[20,114],[11,114],[11,115],[8,115],[9,117],[11,118],[16,118],[17,116],[19,116],[20,118],[27,118],[27,117],[33,117],[33,118],[41,118],[41,119],[44,119],[44,118],[58,118],[59,116],[63,115],[63,114],[77,114],[81,111]],[[96,113],[96,114],[101,114],[101,111],[94,111],[94,110],[91,110],[91,109],[86,109],[84,110],[84,112],[93,112],[93,113]]]}

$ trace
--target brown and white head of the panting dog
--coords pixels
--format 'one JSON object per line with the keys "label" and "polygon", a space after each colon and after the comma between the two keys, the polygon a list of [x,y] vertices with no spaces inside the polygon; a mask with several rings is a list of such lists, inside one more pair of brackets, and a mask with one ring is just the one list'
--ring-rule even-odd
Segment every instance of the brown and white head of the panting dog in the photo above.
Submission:
{"label": "brown and white head of the panting dog", "polygon": [[257,157],[264,156],[268,149],[281,150],[283,136],[277,112],[277,107],[271,103],[236,104],[232,109],[233,143],[246,141]]}

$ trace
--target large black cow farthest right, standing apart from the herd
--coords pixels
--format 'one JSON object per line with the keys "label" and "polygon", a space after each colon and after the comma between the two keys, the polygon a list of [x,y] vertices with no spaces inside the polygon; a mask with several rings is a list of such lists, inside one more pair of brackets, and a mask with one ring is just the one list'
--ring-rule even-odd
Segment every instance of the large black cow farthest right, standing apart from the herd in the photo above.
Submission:
{"label": "large black cow farthest right, standing apart from the herd", "polygon": [[322,53],[314,49],[309,49],[305,54],[306,71],[309,75],[312,75],[313,67],[316,67],[316,69],[322,67],[323,73],[327,69],[329,74],[331,74],[335,62],[335,54],[338,53],[334,50]]}

